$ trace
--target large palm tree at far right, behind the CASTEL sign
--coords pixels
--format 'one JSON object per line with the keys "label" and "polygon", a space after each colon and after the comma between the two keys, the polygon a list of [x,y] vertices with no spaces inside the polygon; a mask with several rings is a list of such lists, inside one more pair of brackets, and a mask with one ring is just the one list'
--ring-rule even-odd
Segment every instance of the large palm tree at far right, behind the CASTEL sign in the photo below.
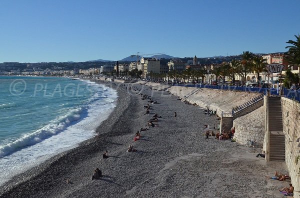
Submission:
{"label": "large palm tree at far right, behind the CASTEL sign", "polygon": [[286,61],[291,65],[300,66],[300,35],[294,35],[296,41],[288,40],[286,43],[291,44],[285,48],[289,48],[287,52],[284,53]]}

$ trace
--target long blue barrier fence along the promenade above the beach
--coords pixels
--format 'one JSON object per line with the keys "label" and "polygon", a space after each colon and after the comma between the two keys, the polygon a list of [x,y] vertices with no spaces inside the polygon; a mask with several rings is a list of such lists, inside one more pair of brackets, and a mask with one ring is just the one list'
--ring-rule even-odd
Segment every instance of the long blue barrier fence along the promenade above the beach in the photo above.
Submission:
{"label": "long blue barrier fence along the promenade above the beach", "polygon": [[[267,90],[269,90],[270,95],[279,95],[278,90],[276,88],[260,88],[260,87],[236,87],[236,86],[218,86],[218,85],[200,85],[200,84],[174,84],[174,86],[179,87],[195,87],[195,88],[207,88],[207,89],[219,89],[219,90],[231,90],[231,91],[245,91],[245,92],[256,92],[256,93],[264,93],[266,95]],[[281,96],[297,100],[300,102],[300,90],[290,90],[283,89]]]}

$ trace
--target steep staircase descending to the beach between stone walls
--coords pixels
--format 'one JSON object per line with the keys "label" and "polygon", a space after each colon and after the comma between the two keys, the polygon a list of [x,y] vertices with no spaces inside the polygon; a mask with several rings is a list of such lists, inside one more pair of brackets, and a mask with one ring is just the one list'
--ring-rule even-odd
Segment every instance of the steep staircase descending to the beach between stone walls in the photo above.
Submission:
{"label": "steep staircase descending to the beach between stone walls", "polygon": [[268,98],[269,161],[285,161],[285,142],[282,127],[280,97]]}

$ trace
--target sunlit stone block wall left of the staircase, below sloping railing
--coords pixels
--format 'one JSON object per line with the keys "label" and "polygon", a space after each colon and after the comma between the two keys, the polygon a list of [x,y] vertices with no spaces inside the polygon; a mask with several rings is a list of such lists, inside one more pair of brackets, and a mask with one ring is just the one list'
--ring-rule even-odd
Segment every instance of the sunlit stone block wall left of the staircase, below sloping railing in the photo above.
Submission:
{"label": "sunlit stone block wall left of the staircase, below sloping railing", "polygon": [[264,139],[264,107],[238,117],[233,120],[233,127],[235,127],[234,138],[239,144],[247,144],[247,140],[255,142],[255,147],[262,148]]}

